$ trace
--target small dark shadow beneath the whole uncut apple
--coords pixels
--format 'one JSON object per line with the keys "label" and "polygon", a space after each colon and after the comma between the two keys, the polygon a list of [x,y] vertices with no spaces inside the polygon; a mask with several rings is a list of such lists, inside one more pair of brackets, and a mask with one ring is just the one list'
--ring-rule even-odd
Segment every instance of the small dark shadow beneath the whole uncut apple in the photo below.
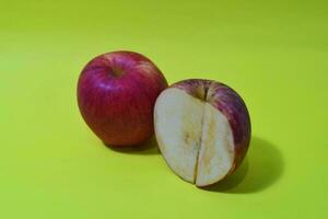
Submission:
{"label": "small dark shadow beneath the whole uncut apple", "polygon": [[156,138],[154,136],[151,139],[137,146],[108,146],[106,143],[105,146],[112,151],[119,153],[129,153],[136,155],[152,155],[161,153]]}

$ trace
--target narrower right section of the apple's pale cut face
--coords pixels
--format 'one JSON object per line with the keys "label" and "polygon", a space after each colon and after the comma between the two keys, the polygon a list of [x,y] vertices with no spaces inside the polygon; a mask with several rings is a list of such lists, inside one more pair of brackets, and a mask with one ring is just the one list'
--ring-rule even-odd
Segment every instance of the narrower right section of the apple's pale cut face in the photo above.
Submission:
{"label": "narrower right section of the apple's pale cut face", "polygon": [[206,186],[223,178],[233,165],[233,135],[226,117],[204,103],[201,146],[196,185]]}

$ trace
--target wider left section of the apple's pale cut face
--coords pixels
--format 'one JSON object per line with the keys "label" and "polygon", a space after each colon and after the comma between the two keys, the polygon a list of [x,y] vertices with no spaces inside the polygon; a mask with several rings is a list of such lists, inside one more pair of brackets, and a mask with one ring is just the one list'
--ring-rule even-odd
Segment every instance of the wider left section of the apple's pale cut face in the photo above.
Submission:
{"label": "wider left section of the apple's pale cut face", "polygon": [[194,183],[203,104],[178,89],[167,89],[155,105],[155,131],[169,168]]}

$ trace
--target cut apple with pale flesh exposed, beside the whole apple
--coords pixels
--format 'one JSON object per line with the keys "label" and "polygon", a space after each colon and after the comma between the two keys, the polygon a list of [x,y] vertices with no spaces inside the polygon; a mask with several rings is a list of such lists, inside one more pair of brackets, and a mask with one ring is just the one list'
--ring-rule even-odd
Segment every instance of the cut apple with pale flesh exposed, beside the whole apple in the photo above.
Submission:
{"label": "cut apple with pale flesh exposed, beside the whole apple", "polygon": [[242,97],[227,85],[189,79],[156,100],[159,148],[175,174],[202,187],[233,173],[250,141],[250,119]]}

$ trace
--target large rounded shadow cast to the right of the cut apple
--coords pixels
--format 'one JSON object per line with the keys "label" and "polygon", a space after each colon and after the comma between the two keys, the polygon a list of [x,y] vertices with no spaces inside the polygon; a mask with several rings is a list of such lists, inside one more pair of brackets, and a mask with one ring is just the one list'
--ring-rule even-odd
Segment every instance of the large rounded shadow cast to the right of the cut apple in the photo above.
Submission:
{"label": "large rounded shadow cast to the right of the cut apple", "polygon": [[236,172],[203,189],[232,194],[257,193],[273,185],[283,169],[280,151],[268,141],[253,137],[247,157]]}

